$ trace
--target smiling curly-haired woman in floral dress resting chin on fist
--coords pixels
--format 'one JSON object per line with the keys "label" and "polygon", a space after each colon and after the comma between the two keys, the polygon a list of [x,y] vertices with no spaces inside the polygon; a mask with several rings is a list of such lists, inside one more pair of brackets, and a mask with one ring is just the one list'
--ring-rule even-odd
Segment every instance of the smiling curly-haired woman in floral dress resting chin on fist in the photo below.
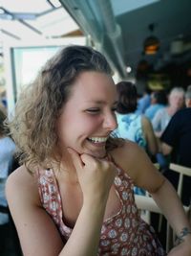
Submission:
{"label": "smiling curly-haired woman in floral dress resting chin on fist", "polygon": [[175,251],[190,255],[190,226],[173,187],[135,143],[111,136],[111,73],[96,50],[69,46],[20,95],[9,127],[23,165],[6,191],[24,255],[166,255],[140,219],[134,184],[149,191],[177,234],[188,230]]}

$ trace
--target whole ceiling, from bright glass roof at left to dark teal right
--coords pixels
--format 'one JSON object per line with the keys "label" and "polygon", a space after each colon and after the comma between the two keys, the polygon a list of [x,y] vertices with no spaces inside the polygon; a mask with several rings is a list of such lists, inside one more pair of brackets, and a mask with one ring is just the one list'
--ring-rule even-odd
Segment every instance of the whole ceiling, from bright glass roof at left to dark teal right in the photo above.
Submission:
{"label": "whole ceiling, from bright glass roof at left to dark teal right", "polygon": [[[1,35],[14,40],[87,35],[90,45],[106,55],[121,78],[135,76],[146,60],[154,70],[191,59],[190,0],[1,0]],[[143,54],[143,42],[159,38],[159,52]],[[79,33],[80,34],[80,33]],[[176,46],[179,39],[180,47]],[[131,73],[126,67],[130,66]]]}

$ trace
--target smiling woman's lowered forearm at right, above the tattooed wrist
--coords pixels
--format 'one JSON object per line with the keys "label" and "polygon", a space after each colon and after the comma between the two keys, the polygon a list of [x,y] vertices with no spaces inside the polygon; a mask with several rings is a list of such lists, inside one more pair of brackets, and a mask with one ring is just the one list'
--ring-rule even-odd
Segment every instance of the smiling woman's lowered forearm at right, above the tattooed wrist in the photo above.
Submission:
{"label": "smiling woman's lowered forearm at right, above the tattooed wrist", "polygon": [[180,234],[182,228],[190,228],[180,198],[167,179],[165,179],[159,190],[152,194],[152,197],[156,200],[159,208],[177,235]]}

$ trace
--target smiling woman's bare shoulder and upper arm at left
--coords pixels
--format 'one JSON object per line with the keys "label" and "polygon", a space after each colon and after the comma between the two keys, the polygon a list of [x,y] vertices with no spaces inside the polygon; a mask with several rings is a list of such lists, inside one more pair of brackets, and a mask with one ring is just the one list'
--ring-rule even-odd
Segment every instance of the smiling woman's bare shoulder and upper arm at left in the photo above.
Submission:
{"label": "smiling woman's bare shoulder and upper arm at left", "polygon": [[16,169],[8,178],[6,196],[23,255],[58,255],[64,244],[41,205],[35,175],[24,166]]}

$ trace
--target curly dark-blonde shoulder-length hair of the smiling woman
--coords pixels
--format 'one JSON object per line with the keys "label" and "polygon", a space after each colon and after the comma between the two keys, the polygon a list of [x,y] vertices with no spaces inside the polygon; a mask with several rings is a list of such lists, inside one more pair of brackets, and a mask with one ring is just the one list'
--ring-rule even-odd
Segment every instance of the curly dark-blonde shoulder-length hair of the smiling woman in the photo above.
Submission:
{"label": "curly dark-blonde shoulder-length hair of the smiling woman", "polygon": [[[8,126],[11,136],[22,152],[20,162],[32,166],[52,167],[59,159],[54,153],[57,144],[55,121],[66,104],[71,88],[83,71],[112,75],[106,58],[86,46],[68,46],[51,58],[35,81],[20,94],[15,114]],[[109,139],[107,149],[117,147]]]}

